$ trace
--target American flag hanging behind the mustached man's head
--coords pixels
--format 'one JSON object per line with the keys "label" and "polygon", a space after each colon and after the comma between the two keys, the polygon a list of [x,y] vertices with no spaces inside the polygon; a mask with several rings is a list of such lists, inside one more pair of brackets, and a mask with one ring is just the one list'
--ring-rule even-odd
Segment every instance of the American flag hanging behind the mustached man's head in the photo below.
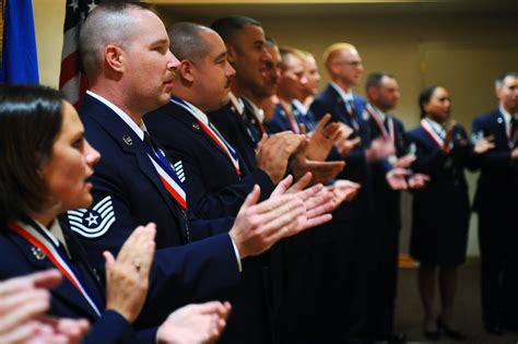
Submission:
{"label": "American flag hanging behind the mustached man's head", "polygon": [[82,73],[79,55],[79,33],[89,13],[99,0],[67,0],[64,19],[63,50],[61,52],[61,72],[59,90],[78,108],[87,88],[86,76]]}

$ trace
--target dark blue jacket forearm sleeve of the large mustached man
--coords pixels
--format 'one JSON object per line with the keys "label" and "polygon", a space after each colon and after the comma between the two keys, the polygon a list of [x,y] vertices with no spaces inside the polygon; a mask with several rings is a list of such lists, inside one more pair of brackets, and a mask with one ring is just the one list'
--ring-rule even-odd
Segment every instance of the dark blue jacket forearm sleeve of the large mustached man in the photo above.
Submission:
{"label": "dark blue jacket forearm sleeve of the large mustached man", "polygon": [[150,290],[136,328],[162,323],[175,309],[192,303],[227,300],[240,282],[228,234],[160,249],[150,273]]}

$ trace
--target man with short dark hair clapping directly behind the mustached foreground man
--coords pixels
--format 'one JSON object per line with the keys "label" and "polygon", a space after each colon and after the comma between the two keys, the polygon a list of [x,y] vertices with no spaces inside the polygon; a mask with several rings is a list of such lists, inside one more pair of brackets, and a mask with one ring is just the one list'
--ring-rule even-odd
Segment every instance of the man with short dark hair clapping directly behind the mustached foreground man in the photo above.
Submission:
{"label": "man with short dark hair clapping directly behind the mustached foreground man", "polygon": [[[257,167],[250,170],[207,116],[228,102],[235,74],[223,40],[211,28],[192,23],[177,23],[168,35],[172,51],[180,59],[178,79],[170,102],[146,115],[148,128],[170,156],[181,161],[193,212],[205,218],[235,216],[254,185],[261,186],[264,197],[270,195],[302,138],[289,134],[278,140],[280,144],[259,144]],[[234,311],[222,342],[272,341],[269,258],[263,254],[243,262],[243,282],[231,298]]]}

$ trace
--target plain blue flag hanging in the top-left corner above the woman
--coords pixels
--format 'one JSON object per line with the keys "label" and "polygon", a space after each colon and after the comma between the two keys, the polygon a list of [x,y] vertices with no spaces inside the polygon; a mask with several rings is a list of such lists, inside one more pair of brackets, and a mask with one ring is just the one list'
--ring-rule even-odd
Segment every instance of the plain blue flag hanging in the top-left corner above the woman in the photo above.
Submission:
{"label": "plain blue flag hanging in the top-left corner above the woman", "polygon": [[8,0],[3,10],[0,82],[37,84],[38,58],[32,0]]}

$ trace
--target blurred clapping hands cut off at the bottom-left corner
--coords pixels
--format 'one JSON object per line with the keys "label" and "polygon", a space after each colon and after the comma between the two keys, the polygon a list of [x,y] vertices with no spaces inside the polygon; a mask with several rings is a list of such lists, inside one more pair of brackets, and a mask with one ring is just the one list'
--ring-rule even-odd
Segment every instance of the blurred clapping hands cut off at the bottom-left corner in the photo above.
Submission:
{"label": "blurred clapping hands cut off at the bottom-left corner", "polygon": [[59,284],[52,269],[0,283],[0,343],[78,343],[89,331],[86,320],[50,319],[47,290]]}

